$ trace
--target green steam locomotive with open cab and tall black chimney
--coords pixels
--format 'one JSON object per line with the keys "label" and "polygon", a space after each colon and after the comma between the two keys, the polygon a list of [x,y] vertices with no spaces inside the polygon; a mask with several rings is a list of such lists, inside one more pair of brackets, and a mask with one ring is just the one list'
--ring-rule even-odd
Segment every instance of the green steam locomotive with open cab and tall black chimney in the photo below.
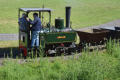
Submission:
{"label": "green steam locomotive with open cab and tall black chimney", "polygon": [[[44,28],[44,30],[47,30],[47,32],[41,31],[39,34],[40,45],[38,51],[42,49],[42,51],[46,55],[54,54],[54,53],[61,54],[61,53],[75,51],[74,42],[76,41],[76,32],[70,28],[70,10],[71,7],[66,7],[66,27],[64,27],[63,29],[57,29],[57,27],[60,26],[54,26],[55,27],[54,29],[59,31],[51,31],[53,28],[53,26],[51,26],[52,9],[49,8],[20,8],[18,12],[18,18],[20,18],[21,12],[25,12],[27,15],[29,15],[30,12],[38,12],[39,18],[43,18],[42,17],[43,12],[48,12],[49,25],[47,25],[47,27]],[[68,31],[64,31],[64,30],[68,30]],[[27,31],[23,31],[19,28],[19,49],[24,56],[27,56],[28,52],[31,51],[30,43],[31,43],[30,25],[27,26]]]}

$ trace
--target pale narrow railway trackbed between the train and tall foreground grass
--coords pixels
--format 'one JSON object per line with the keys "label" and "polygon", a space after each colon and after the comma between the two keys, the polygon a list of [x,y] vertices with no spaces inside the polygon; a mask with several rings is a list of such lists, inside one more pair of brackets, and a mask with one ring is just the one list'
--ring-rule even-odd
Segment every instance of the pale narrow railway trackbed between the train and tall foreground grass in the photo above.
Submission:
{"label": "pale narrow railway trackbed between the train and tall foreground grass", "polygon": [[[89,54],[92,54],[92,52],[95,51],[95,50],[100,50],[102,52],[106,48],[105,48],[105,45],[99,45],[99,46],[87,47],[85,50],[88,50],[88,49],[89,49]],[[79,57],[81,55],[82,55],[82,52],[74,53],[74,54],[71,54],[71,55],[65,55],[65,56],[47,56],[47,57],[44,57],[42,59],[48,59],[50,62],[54,62],[54,61],[56,61],[56,59],[62,59],[62,60],[79,59]],[[27,62],[35,62],[35,61],[39,63],[40,59],[41,59],[41,57],[31,58],[31,59],[30,58],[29,59],[23,59],[23,58],[18,58],[17,57],[17,59],[16,59],[15,56],[14,56],[14,58],[8,56],[8,58],[0,58],[0,66],[3,66],[5,61],[13,61],[13,62],[17,62],[18,64],[24,64],[24,63],[27,63]]]}

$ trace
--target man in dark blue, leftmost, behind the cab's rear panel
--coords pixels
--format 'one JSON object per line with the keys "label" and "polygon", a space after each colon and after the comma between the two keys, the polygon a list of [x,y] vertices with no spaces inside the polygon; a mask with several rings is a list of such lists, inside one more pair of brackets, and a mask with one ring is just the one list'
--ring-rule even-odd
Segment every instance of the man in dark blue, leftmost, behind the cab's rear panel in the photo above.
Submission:
{"label": "man in dark blue, leftmost, behind the cab's rear panel", "polygon": [[27,15],[25,13],[22,14],[22,17],[19,19],[19,26],[20,30],[27,31],[27,28],[29,27],[29,22],[27,21]]}

